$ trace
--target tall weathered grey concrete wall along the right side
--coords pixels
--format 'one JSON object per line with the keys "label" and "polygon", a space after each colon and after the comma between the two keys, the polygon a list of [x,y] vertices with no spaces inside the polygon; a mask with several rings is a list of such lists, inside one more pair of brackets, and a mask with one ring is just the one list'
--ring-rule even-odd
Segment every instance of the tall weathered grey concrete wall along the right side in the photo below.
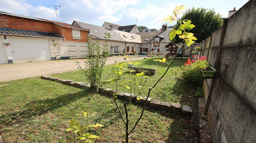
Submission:
{"label": "tall weathered grey concrete wall along the right side", "polygon": [[250,0],[211,36],[209,63],[228,65],[219,69],[223,76],[203,83],[213,142],[256,141],[255,23],[256,0]]}

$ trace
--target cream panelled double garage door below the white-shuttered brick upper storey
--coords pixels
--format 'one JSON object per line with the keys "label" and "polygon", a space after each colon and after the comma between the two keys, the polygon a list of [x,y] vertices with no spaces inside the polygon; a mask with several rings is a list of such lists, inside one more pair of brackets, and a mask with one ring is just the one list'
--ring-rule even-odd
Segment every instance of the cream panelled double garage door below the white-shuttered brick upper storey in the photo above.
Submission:
{"label": "cream panelled double garage door below the white-shuttered brick upper storey", "polygon": [[68,47],[70,59],[86,58],[88,55],[86,44],[69,44]]}

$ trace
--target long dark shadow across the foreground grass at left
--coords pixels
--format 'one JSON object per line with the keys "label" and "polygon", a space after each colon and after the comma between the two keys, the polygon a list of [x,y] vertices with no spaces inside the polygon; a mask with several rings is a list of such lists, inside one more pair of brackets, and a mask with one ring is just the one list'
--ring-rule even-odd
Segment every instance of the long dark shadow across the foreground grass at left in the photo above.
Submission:
{"label": "long dark shadow across the foreground grass at left", "polygon": [[[51,99],[43,99],[43,100],[37,100],[29,102],[25,105],[25,110],[22,112],[15,111],[11,114],[5,114],[6,119],[11,117],[8,121],[2,119],[0,120],[1,124],[20,124],[24,122],[24,119],[29,119],[32,116],[40,116],[47,112],[55,111],[58,108],[61,108],[63,106],[66,106],[81,97],[88,97],[91,94],[89,94],[88,91],[84,90],[82,92],[77,92],[73,94],[64,94],[62,96],[58,96],[56,98]],[[90,97],[87,98],[88,101],[91,99]],[[23,120],[20,120],[23,119]]]}

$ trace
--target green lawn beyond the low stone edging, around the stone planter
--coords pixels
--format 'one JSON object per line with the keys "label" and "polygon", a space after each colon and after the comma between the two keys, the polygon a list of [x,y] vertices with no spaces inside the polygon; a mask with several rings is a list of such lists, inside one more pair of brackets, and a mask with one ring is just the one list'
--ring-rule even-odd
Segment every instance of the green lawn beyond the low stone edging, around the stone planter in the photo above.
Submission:
{"label": "green lawn beyond the low stone edging, around the stone planter", "polygon": [[[157,80],[163,75],[163,73],[166,71],[167,67],[169,66],[166,63],[161,63],[158,61],[153,61],[154,59],[163,59],[159,57],[153,57],[153,58],[147,58],[143,60],[138,60],[136,62],[139,62],[140,64],[136,65],[136,67],[145,67],[145,68],[157,68],[157,72],[155,75],[149,75],[149,78],[147,79],[147,84],[145,85],[146,88],[152,87]],[[127,59],[129,61],[129,58]],[[170,62],[171,59],[167,60],[167,62]],[[182,105],[191,105],[191,99],[188,96],[191,96],[191,87],[188,86],[183,82],[178,82],[175,79],[175,75],[173,73],[173,70],[176,69],[178,66],[181,66],[186,62],[186,60],[181,60],[180,58],[177,58],[174,63],[172,64],[171,68],[161,79],[161,81],[155,86],[154,90],[151,92],[150,97],[155,100],[160,100],[164,102],[171,102],[171,103],[177,103]],[[102,83],[106,80],[106,77],[108,77],[110,70],[112,67],[105,66],[104,72],[103,72],[103,78]],[[85,76],[82,74],[81,70],[77,70],[75,72],[68,72],[63,74],[53,74],[52,77],[57,77],[61,79],[72,79],[74,81],[80,81],[85,82]],[[110,74],[108,79],[115,78],[114,74]],[[122,78],[118,81],[118,83],[124,83],[125,81],[131,80],[130,75],[123,75]],[[129,86],[127,83],[126,85]],[[105,82],[103,84],[106,88],[115,88],[115,84],[111,84],[110,82]],[[125,87],[125,84],[123,86],[118,87],[118,91],[122,92],[129,92],[129,90]],[[144,89],[143,95],[147,95],[148,90]]]}

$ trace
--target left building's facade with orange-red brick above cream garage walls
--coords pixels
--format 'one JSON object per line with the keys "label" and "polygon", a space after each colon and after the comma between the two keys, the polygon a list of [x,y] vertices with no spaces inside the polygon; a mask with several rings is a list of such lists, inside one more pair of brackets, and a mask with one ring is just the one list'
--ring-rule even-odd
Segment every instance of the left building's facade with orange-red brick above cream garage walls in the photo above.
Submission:
{"label": "left building's facade with orange-red brick above cream garage walls", "polygon": [[0,64],[85,58],[88,33],[67,23],[0,12]]}

